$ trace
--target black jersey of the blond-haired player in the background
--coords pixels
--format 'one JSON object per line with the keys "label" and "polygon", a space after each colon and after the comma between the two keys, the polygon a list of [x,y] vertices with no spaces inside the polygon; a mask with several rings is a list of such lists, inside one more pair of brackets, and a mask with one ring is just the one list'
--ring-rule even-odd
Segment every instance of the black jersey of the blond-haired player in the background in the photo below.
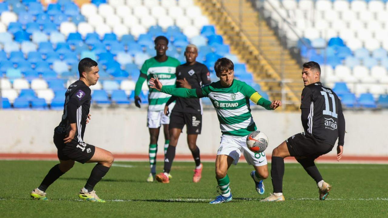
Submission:
{"label": "black jersey of the blond-haired player in the background", "polygon": [[[210,84],[210,72],[204,64],[196,62],[190,66],[185,63],[177,67],[175,71],[177,80],[186,80],[191,85],[191,88],[201,88],[203,85]],[[180,83],[177,82],[177,88]],[[202,104],[200,99],[185,99],[177,97],[177,102],[172,111],[192,114],[202,114]]]}

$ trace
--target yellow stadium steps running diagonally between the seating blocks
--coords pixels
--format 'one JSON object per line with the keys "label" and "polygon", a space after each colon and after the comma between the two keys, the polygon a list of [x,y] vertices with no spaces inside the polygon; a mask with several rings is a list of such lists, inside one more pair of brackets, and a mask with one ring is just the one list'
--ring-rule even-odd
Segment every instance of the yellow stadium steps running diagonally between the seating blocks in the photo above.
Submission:
{"label": "yellow stadium steps running diagonally between the seating blocks", "polygon": [[[281,46],[274,31],[259,19],[251,3],[246,0],[196,0],[196,3],[225,36],[232,52],[246,61],[248,71],[254,72],[256,82],[271,95],[270,99],[286,100],[284,108],[297,110],[303,89],[300,66]],[[285,93],[279,83],[282,77],[287,81]]]}

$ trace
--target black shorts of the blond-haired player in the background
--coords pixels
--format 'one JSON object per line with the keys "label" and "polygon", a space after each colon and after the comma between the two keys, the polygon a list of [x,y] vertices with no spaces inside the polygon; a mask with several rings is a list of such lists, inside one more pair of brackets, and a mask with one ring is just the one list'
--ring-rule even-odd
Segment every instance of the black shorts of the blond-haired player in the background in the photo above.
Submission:
{"label": "black shorts of the blond-haired player in the background", "polygon": [[202,115],[175,111],[171,112],[168,128],[178,128],[182,130],[184,125],[186,125],[187,134],[201,134]]}

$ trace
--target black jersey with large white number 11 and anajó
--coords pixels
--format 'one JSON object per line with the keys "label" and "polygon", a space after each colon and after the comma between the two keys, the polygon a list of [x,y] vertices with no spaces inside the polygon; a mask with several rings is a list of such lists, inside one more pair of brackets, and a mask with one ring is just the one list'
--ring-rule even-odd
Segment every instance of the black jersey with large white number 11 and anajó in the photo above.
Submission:
{"label": "black jersey with large white number 11 and anaj\u00f3", "polygon": [[[330,88],[317,82],[303,88],[301,96],[302,125],[306,132],[334,145],[345,132],[341,101]],[[341,133],[340,133],[341,132]],[[343,137],[338,144],[343,145]]]}

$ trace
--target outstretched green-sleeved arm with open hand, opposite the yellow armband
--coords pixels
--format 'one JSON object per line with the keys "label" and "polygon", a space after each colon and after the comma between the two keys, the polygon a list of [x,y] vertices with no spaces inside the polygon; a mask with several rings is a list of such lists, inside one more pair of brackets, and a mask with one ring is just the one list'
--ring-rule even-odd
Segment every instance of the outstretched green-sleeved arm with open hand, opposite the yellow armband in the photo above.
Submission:
{"label": "outstretched green-sleeved arm with open hand, opposite the yellow armband", "polygon": [[190,99],[197,99],[197,98],[204,97],[204,96],[197,95],[197,89],[195,88],[188,89],[188,88],[164,87],[158,78],[156,79],[151,78],[149,83],[151,84],[150,88],[154,88],[159,92],[163,92],[176,97],[190,98]]}

